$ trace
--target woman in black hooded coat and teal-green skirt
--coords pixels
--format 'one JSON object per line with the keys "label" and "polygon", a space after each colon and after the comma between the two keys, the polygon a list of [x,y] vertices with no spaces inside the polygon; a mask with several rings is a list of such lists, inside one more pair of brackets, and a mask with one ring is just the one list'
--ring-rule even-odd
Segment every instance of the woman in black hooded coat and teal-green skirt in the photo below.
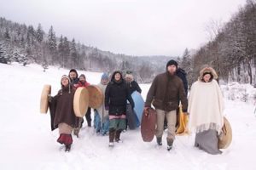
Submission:
{"label": "woman in black hooded coat and teal-green skirt", "polygon": [[111,77],[111,82],[108,83],[105,92],[105,108],[109,115],[109,146],[113,146],[115,142],[120,141],[120,133],[126,127],[126,102],[134,108],[134,102],[131,98],[130,91],[122,77],[120,71],[114,71]]}

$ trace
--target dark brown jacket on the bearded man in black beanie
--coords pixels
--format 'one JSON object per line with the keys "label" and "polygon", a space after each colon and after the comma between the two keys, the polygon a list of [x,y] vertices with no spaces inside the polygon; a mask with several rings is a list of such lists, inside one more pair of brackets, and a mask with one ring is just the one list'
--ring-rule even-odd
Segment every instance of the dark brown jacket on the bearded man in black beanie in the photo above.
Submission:
{"label": "dark brown jacket on the bearded man in black beanie", "polygon": [[154,107],[162,111],[177,110],[181,101],[183,111],[186,112],[188,99],[182,80],[177,75],[170,75],[167,71],[157,75],[148,90],[145,105],[150,107],[152,101]]}

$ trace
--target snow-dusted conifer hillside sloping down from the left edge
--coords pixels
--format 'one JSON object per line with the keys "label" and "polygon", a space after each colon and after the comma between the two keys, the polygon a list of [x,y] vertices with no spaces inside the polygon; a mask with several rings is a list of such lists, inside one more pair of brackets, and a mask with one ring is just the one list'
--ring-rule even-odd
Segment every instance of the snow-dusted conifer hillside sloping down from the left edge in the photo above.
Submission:
{"label": "snow-dusted conifer hillside sloping down from the left edge", "polygon": [[165,71],[169,57],[131,57],[87,47],[73,38],[56,37],[53,26],[45,33],[43,26],[20,25],[0,17],[0,62],[21,65],[37,63],[44,71],[49,65],[86,71],[133,71],[139,82],[150,82],[155,74]]}

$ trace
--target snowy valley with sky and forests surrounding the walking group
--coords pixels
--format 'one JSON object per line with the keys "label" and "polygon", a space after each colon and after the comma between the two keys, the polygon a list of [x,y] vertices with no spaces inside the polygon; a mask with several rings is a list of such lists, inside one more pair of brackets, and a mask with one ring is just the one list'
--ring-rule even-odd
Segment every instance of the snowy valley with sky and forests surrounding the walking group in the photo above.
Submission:
{"label": "snowy valley with sky and forests surrounding the walking group", "polygon": [[[189,88],[203,66],[218,73],[233,131],[221,155],[195,148],[195,133],[177,136],[167,151],[167,132],[158,146],[143,142],[140,127],[111,148],[86,122],[70,152],[56,142],[49,112],[40,113],[45,84],[54,96],[73,68],[90,84],[102,72],[131,71],[146,99],[170,59]],[[1,170],[256,169],[256,0],[1,2],[0,73]]]}

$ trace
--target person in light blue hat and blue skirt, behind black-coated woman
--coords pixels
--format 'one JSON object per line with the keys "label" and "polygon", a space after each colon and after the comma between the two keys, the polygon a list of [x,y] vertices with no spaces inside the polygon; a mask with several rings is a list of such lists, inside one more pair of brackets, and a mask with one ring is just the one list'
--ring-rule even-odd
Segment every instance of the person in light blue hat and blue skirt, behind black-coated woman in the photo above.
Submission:
{"label": "person in light blue hat and blue skirt, behind black-coated woman", "polygon": [[[101,82],[97,85],[101,89],[102,94],[105,94],[107,85],[108,85],[108,74],[103,73]],[[96,133],[102,133],[102,135],[107,135],[108,128],[109,128],[109,116],[108,116],[108,111],[105,109],[104,103],[105,102],[103,99],[102,105],[100,105],[98,108],[95,109],[94,127],[96,128]]]}

